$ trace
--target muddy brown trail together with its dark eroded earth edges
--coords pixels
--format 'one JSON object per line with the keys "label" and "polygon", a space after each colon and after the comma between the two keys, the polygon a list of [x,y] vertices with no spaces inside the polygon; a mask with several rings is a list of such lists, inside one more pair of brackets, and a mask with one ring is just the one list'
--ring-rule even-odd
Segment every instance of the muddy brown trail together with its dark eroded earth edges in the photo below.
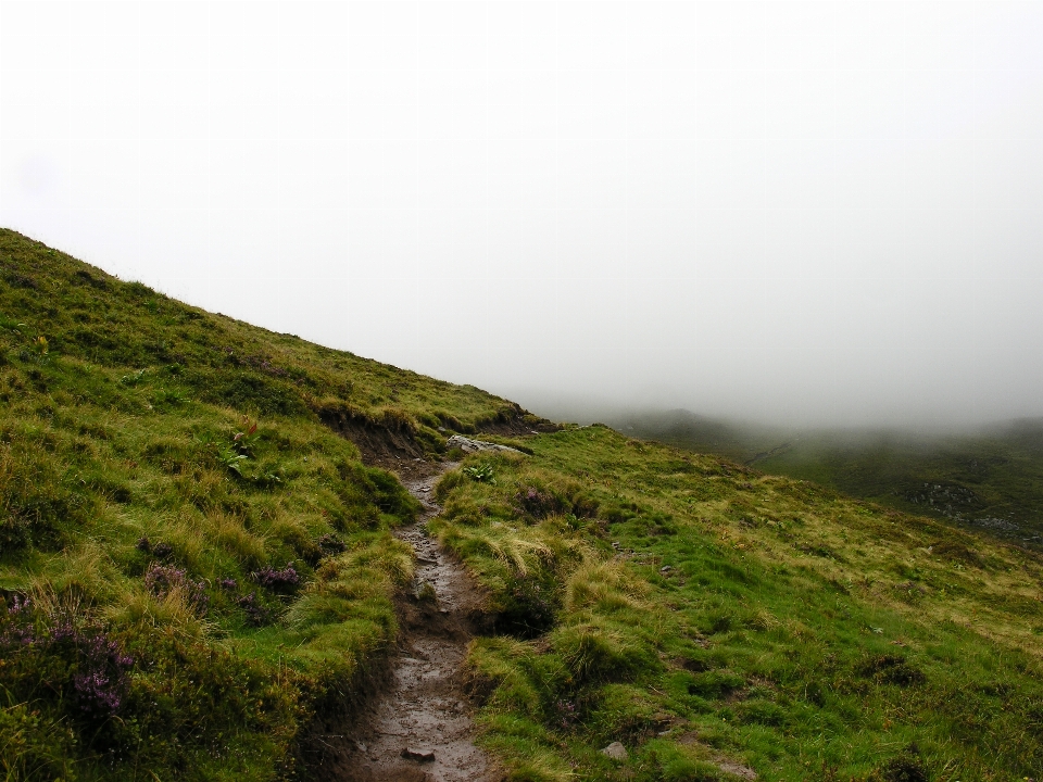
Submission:
{"label": "muddy brown trail together with its dark eroded earth edges", "polygon": [[[451,440],[450,446],[465,454],[514,451],[467,438]],[[503,778],[499,764],[474,743],[474,704],[466,689],[467,651],[487,623],[483,595],[458,559],[425,530],[441,512],[433,502],[435,482],[457,466],[457,462],[416,458],[388,465],[423,506],[415,521],[393,531],[413,548],[416,573],[412,584],[394,595],[399,621],[394,646],[360,672],[350,685],[353,695],[342,708],[316,715],[302,736],[301,770],[310,780],[494,782]],[[425,646],[433,655],[425,653]],[[409,727],[418,721],[425,723],[420,734]]]}

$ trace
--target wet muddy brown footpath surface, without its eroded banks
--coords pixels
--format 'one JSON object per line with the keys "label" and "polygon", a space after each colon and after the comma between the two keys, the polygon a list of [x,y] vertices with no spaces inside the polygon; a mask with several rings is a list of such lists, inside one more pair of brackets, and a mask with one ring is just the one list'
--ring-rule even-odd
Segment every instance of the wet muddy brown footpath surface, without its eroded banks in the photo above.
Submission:
{"label": "wet muddy brown footpath surface, without its eroded banks", "polygon": [[399,601],[402,633],[391,659],[389,686],[350,737],[353,751],[341,780],[360,782],[490,782],[500,778],[491,759],[473,741],[470,707],[461,666],[472,639],[469,617],[480,605],[463,566],[424,531],[439,513],[432,500],[439,465],[428,477],[403,478],[422,503],[416,524],[395,534],[416,552],[416,578]]}

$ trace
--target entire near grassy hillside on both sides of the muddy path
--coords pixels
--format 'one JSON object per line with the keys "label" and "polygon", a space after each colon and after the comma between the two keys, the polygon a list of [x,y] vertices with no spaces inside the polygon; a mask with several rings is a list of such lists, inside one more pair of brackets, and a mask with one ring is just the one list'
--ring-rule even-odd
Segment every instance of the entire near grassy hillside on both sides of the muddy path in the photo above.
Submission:
{"label": "entire near grassy hillside on both sides of the muddy path", "polygon": [[525,452],[467,456],[429,525],[486,596],[467,673],[510,779],[1043,768],[1043,563],[1023,547],[555,431],[11,231],[0,402],[4,779],[309,778],[312,717],[372,690],[413,573],[391,530],[416,505],[380,466],[441,458],[451,431]]}

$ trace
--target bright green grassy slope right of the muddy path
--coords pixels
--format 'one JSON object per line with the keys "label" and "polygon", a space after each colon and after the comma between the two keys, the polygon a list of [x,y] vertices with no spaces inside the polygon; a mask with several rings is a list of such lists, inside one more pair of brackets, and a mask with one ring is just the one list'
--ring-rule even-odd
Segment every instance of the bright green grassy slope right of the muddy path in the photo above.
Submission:
{"label": "bright green grassy slope right of the muddy path", "polygon": [[1043,768],[1038,556],[596,425],[526,444],[432,524],[501,611],[470,659],[516,779]]}

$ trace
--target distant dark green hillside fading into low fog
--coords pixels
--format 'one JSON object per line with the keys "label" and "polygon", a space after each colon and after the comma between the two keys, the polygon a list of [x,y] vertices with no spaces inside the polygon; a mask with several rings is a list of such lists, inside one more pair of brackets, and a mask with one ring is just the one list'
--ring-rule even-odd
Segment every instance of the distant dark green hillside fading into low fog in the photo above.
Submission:
{"label": "distant dark green hillside fading into low fog", "polygon": [[1043,544],[1043,421],[953,434],[893,429],[749,427],[687,411],[620,417],[638,437],[727,456],[758,470]]}

